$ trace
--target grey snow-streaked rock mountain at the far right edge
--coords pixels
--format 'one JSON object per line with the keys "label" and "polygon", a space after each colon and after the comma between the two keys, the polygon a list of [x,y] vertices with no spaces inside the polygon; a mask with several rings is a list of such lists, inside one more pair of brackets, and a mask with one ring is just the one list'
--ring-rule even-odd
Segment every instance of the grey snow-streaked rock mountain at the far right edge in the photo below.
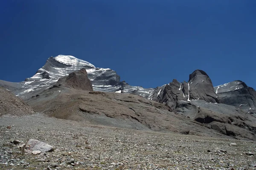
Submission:
{"label": "grey snow-streaked rock mountain at the far right edge", "polygon": [[214,87],[220,103],[236,106],[248,113],[256,113],[256,91],[236,80]]}

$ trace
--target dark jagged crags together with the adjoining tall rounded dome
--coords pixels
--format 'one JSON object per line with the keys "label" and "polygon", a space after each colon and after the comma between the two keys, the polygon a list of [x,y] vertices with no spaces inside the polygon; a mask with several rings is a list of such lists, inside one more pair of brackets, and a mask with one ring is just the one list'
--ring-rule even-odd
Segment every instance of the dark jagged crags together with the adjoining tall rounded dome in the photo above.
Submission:
{"label": "dark jagged crags together with the adjoining tall rounded dome", "polygon": [[217,95],[215,94],[212,81],[209,76],[202,70],[196,70],[189,75],[189,82],[178,82],[174,79],[162,88],[154,91],[154,99],[157,102],[165,102],[171,110],[177,108],[177,102],[180,100],[204,100],[206,102],[217,103]]}

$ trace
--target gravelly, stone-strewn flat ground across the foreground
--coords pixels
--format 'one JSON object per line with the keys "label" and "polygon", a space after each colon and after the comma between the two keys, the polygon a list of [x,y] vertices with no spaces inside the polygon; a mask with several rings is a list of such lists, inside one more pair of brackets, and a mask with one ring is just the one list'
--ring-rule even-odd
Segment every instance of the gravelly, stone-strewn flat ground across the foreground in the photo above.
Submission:
{"label": "gravelly, stone-strewn flat ground across the foreground", "polygon": [[[52,145],[34,155],[17,146],[28,139]],[[20,140],[20,144],[13,144]],[[34,114],[0,118],[3,170],[251,170],[256,142],[128,130]]]}

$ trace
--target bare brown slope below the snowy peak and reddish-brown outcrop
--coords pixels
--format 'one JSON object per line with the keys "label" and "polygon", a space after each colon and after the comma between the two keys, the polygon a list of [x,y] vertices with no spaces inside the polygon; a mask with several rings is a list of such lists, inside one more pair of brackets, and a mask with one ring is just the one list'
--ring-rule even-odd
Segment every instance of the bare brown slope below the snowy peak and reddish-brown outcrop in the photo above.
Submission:
{"label": "bare brown slope below the snowy peak and reddish-brown outcrop", "polygon": [[35,111],[61,119],[86,120],[96,125],[137,130],[233,138],[187,116],[171,112],[165,104],[134,94],[79,91],[60,87],[44,91],[36,99],[32,98],[27,102]]}

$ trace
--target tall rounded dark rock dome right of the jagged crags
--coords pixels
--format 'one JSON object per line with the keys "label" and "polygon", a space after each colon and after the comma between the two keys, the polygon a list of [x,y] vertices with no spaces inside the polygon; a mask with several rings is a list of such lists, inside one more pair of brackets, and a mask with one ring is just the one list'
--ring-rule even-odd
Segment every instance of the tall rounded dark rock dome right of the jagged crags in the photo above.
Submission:
{"label": "tall rounded dark rock dome right of the jagged crags", "polygon": [[218,103],[212,81],[202,70],[196,70],[189,75],[189,99]]}

